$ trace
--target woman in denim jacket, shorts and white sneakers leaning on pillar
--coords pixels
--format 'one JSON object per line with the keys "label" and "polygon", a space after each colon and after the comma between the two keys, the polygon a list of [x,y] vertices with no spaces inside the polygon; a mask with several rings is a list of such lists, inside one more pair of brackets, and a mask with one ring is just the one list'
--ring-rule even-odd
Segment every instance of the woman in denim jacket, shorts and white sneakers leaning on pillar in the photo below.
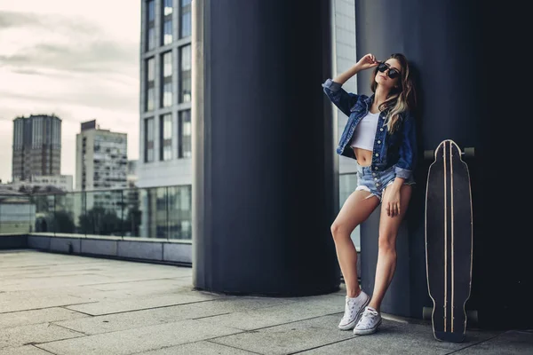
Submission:
{"label": "woman in denim jacket, shorts and white sneakers leaning on pillar", "polygon": [[[370,97],[348,93],[342,84],[361,70],[375,68]],[[381,324],[380,304],[396,265],[396,235],[409,205],[417,162],[416,99],[409,63],[400,53],[378,62],[367,54],[345,73],[322,84],[348,122],[337,153],[357,162],[358,185],[338,212],[331,233],[346,283],[346,307],[338,327],[355,335],[374,333]],[[357,281],[357,252],[350,234],[381,203],[378,265],[370,299]]]}

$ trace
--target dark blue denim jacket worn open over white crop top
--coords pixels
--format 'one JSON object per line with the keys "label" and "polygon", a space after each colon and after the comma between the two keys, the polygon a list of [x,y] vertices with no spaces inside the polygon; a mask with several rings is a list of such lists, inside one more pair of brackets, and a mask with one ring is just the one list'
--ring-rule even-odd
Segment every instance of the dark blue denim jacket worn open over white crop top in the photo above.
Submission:
{"label": "dark blue denim jacket worn open over white crop top", "polygon": [[[356,159],[354,150],[350,147],[350,141],[355,127],[368,114],[374,95],[368,97],[348,93],[341,86],[331,79],[322,83],[323,90],[331,102],[348,116],[348,122],[338,142],[337,154]],[[400,117],[400,126],[393,133],[388,133],[386,124],[384,124],[386,113],[379,114],[371,169],[383,171],[395,165],[396,176],[408,179],[412,177],[417,163],[416,125],[414,117],[409,112],[403,112]]]}

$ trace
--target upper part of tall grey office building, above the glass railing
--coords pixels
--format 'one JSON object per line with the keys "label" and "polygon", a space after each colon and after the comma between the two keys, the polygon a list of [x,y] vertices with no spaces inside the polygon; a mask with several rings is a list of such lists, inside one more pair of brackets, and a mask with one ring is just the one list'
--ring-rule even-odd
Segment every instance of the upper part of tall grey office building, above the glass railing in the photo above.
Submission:
{"label": "upper part of tall grey office building, above the glass railing", "polygon": [[191,0],[143,0],[141,13],[138,185],[190,185]]}

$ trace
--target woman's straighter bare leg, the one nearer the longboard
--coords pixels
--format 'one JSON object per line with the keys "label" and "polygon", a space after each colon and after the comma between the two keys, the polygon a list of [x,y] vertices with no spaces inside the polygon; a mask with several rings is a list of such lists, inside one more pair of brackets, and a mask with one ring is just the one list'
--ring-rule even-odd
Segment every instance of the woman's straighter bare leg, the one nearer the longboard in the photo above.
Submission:
{"label": "woman's straighter bare leg, the one nearer the longboard", "polygon": [[[390,217],[386,214],[386,204],[381,206],[381,217],[379,221],[379,241],[378,241],[378,265],[376,266],[376,280],[374,292],[369,306],[379,312],[381,302],[385,296],[386,289],[393,280],[396,269],[396,236],[402,223],[405,212],[409,206],[412,187],[402,185],[400,190],[400,215]],[[385,198],[386,190],[383,194]]]}

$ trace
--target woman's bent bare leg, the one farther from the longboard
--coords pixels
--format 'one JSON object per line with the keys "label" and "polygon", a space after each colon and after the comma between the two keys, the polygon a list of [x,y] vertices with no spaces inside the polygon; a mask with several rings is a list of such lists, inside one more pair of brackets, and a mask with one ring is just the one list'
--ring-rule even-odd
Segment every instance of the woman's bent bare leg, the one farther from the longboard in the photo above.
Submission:
{"label": "woman's bent bare leg, the one farther from the longboard", "polygon": [[357,225],[367,219],[372,211],[378,207],[378,197],[370,195],[368,191],[355,191],[338,212],[337,218],[331,225],[331,234],[337,249],[338,264],[346,283],[346,295],[358,296],[361,288],[357,280],[357,251],[350,234]]}

